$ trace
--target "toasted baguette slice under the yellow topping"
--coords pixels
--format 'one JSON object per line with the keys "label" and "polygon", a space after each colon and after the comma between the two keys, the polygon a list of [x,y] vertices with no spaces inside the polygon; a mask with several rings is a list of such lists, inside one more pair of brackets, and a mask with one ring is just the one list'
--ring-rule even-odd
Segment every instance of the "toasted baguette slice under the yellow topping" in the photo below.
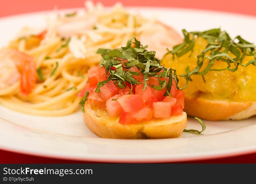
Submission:
{"label": "toasted baguette slice under the yellow topping", "polygon": [[256,102],[210,100],[196,95],[185,96],[184,111],[191,116],[218,120],[240,120],[256,115]]}

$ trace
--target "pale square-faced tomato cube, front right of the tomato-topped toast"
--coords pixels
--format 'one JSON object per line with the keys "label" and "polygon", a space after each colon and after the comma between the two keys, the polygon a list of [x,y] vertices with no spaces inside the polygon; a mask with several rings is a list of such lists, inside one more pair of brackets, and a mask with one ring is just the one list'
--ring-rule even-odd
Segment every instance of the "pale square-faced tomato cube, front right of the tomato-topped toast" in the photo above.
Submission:
{"label": "pale square-faced tomato cube, front right of the tomato-topped toast", "polygon": [[169,119],[171,116],[171,103],[170,102],[154,102],[153,103],[153,116],[155,118]]}

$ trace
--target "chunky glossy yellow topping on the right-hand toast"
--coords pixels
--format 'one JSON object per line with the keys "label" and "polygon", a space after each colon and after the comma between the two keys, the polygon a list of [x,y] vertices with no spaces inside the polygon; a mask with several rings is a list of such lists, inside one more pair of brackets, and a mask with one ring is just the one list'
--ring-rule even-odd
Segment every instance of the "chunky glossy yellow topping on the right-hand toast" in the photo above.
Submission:
{"label": "chunky glossy yellow topping on the right-hand toast", "polygon": [[[185,69],[189,66],[190,71],[195,69],[197,65],[197,56],[206,48],[208,42],[202,37],[196,38],[193,51],[186,53],[181,57],[172,54],[166,55],[162,62],[166,67],[171,67],[177,70],[178,75],[185,74]],[[228,53],[232,58],[235,58],[232,53]],[[210,51],[205,56],[210,56]],[[243,64],[254,59],[253,56],[246,56],[243,59]],[[209,59],[205,59],[199,72],[203,71],[208,65]],[[224,69],[228,65],[221,60],[215,60],[211,69]],[[235,68],[231,63],[231,68]],[[202,97],[209,99],[229,99],[231,101],[256,101],[256,66],[248,65],[247,67],[238,66],[238,70],[231,72],[223,71],[209,71],[202,76],[192,75],[188,86],[184,89],[186,94],[198,93]],[[179,77],[179,85],[184,86],[186,79]]]}

